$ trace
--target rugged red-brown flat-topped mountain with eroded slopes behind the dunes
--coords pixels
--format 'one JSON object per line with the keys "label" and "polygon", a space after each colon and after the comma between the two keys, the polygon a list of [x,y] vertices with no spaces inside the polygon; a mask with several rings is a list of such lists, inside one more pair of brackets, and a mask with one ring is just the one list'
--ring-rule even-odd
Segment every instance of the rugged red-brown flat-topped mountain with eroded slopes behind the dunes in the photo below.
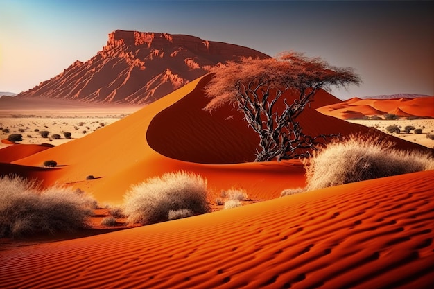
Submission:
{"label": "rugged red-brown flat-topped mountain with eroded slopes behind the dunes", "polygon": [[205,75],[204,67],[241,56],[268,58],[247,47],[189,35],[116,30],[101,51],[19,97],[145,104]]}

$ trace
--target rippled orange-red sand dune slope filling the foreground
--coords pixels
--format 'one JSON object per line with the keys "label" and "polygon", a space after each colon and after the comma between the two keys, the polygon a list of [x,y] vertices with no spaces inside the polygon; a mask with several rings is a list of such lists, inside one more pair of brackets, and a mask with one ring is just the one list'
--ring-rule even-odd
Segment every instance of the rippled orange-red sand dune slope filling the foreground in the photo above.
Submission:
{"label": "rippled orange-red sand dune slope filling the foreground", "polygon": [[3,288],[434,288],[433,171],[0,251]]}

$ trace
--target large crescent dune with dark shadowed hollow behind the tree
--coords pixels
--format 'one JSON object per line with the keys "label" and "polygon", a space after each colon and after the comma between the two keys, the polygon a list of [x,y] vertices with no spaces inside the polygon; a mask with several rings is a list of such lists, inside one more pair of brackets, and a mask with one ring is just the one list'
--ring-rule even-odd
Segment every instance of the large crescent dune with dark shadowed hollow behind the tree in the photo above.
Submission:
{"label": "large crescent dune with dark shadowed hollow behind the tree", "polygon": [[[203,110],[208,100],[202,88],[210,77],[199,78],[86,137],[12,164],[20,165],[22,174],[28,176],[44,161],[53,159],[60,169],[44,172],[44,184],[71,184],[93,193],[99,202],[119,203],[130,185],[175,170],[203,175],[214,195],[235,186],[245,189],[250,198],[264,200],[276,198],[288,187],[304,186],[300,161],[250,162],[259,139],[232,105],[212,115]],[[320,91],[312,108],[299,116],[304,133],[345,136],[363,132],[392,139],[398,148],[426,149],[315,111],[316,107],[336,102],[337,98]],[[87,180],[87,175],[95,179]]]}

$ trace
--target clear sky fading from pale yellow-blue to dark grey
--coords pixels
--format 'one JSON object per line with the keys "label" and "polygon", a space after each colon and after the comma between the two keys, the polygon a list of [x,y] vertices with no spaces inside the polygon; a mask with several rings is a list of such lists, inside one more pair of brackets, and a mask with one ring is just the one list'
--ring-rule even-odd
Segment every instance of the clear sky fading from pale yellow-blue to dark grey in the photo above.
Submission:
{"label": "clear sky fading from pale yellow-blue to dark grey", "polygon": [[341,99],[434,95],[434,1],[0,0],[0,91],[31,89],[89,60],[121,30],[186,34],[270,56],[354,67]]}

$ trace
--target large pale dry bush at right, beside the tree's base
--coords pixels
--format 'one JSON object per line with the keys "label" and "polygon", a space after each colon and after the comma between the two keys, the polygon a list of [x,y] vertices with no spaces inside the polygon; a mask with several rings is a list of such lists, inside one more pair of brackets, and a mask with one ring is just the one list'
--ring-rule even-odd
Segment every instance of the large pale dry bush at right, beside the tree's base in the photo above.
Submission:
{"label": "large pale dry bush at right, beside the tree's base", "polygon": [[393,143],[361,136],[330,143],[316,153],[306,168],[306,191],[366,179],[433,170],[428,153],[397,150]]}

